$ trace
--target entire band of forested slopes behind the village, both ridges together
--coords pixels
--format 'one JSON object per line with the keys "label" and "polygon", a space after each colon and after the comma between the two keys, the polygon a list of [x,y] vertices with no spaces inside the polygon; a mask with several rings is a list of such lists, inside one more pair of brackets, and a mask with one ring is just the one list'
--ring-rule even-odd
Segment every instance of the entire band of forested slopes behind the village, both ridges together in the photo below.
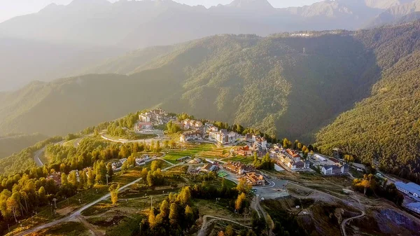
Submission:
{"label": "entire band of forested slopes behind the village, both ridges together", "polygon": [[153,106],[302,141],[335,120],[321,150],[419,172],[420,22],[305,34],[211,36],[102,67],[127,75],[31,83],[0,93],[0,132],[66,134]]}

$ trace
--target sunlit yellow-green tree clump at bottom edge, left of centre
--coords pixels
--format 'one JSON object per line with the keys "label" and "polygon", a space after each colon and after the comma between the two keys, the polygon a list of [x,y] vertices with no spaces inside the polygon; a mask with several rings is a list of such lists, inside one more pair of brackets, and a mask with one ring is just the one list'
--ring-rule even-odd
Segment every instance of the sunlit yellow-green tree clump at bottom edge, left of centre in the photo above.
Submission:
{"label": "sunlit yellow-green tree clump at bottom edge, left of centre", "polygon": [[198,217],[197,209],[191,205],[190,187],[179,194],[170,193],[159,208],[153,207],[148,218],[140,223],[139,235],[185,235]]}

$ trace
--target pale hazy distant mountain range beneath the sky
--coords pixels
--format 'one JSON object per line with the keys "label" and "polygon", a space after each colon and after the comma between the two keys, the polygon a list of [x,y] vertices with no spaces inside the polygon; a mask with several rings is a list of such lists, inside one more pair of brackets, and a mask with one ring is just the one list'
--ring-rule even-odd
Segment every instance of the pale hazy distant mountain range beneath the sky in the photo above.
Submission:
{"label": "pale hazy distant mountain range beneath the sky", "polygon": [[0,90],[22,88],[29,81],[76,76],[79,72],[125,74],[135,67],[133,62],[142,64],[157,55],[142,52],[139,57],[135,53],[130,61],[120,61],[109,68],[92,64],[127,50],[172,45],[215,34],[267,36],[301,30],[355,30],[380,13],[383,14],[375,18],[379,25],[403,15],[405,18],[400,20],[406,21],[416,17],[407,16],[414,3],[337,0],[293,8],[274,8],[267,0],[232,1],[211,8],[169,0],[74,0],[66,6],[50,4],[38,13],[0,23]]}

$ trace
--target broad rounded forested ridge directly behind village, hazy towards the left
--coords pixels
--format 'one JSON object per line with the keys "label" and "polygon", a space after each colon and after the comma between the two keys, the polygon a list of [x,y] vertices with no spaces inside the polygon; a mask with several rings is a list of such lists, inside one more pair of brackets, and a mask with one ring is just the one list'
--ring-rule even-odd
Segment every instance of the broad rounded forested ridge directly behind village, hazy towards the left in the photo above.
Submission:
{"label": "broad rounded forested ridge directly behind village, hazy towards the left", "polygon": [[313,34],[213,36],[186,43],[129,76],[35,83],[3,99],[0,131],[66,134],[161,106],[302,137],[367,96],[379,74],[372,51],[350,32]]}

